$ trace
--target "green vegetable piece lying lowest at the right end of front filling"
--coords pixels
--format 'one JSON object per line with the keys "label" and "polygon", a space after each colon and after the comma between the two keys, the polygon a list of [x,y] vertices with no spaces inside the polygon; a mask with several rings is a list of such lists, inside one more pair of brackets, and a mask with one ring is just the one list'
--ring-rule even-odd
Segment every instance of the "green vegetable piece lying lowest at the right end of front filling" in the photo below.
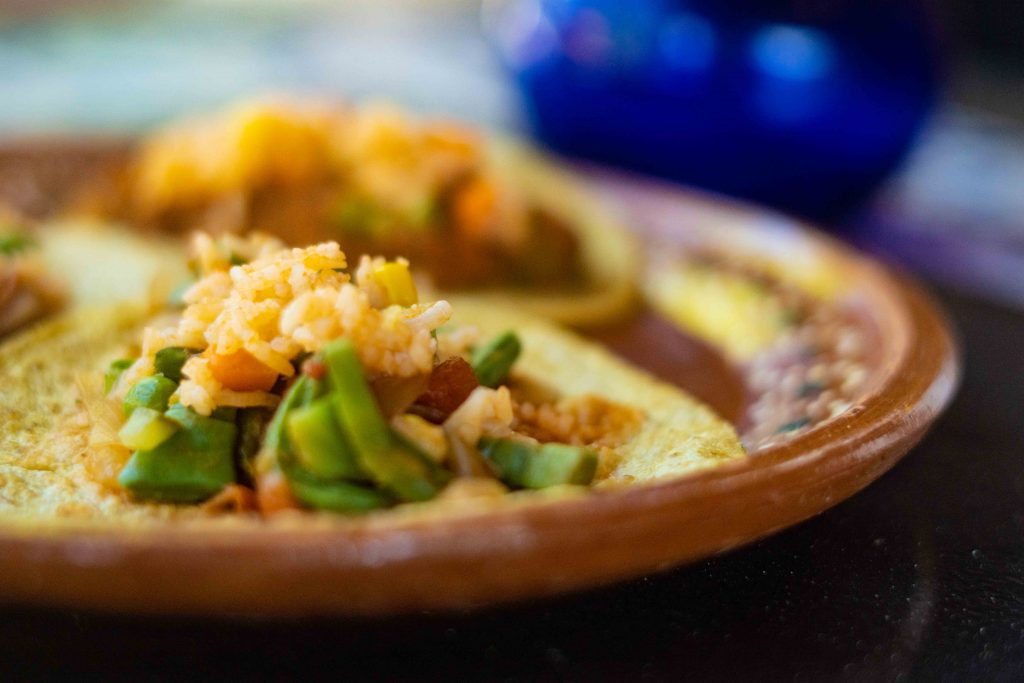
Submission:
{"label": "green vegetable piece lying lowest at the right end of front filling", "polygon": [[597,454],[565,443],[485,438],[480,451],[498,466],[503,481],[525,488],[589,484],[597,471]]}

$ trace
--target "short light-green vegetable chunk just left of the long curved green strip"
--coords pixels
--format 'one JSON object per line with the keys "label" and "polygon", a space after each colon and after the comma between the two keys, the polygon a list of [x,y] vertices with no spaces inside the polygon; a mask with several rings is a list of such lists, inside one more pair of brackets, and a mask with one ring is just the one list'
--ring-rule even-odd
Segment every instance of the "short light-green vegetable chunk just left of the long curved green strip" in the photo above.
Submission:
{"label": "short light-green vegetable chunk just left of the long curved green strip", "polygon": [[366,479],[335,414],[333,396],[293,410],[285,420],[291,449],[302,468],[321,479]]}

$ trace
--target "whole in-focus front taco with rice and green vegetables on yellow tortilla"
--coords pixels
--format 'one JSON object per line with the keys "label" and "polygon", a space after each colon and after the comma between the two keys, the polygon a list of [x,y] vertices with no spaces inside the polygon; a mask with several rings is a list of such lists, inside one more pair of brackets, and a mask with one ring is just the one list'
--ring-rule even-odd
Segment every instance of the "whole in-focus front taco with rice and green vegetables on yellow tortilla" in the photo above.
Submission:
{"label": "whole in-focus front taco with rice and green vegetables on yellow tortilla", "polygon": [[80,309],[4,345],[2,518],[479,509],[743,456],[710,409],[571,333],[421,303],[403,260],[196,251],[180,309]]}

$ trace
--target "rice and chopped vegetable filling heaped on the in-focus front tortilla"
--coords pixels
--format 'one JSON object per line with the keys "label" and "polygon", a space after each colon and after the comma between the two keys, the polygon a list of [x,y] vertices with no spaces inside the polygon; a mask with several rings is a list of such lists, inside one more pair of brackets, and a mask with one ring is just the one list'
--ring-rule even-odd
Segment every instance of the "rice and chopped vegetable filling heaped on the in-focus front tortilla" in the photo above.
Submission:
{"label": "rice and chopped vegetable filling heaped on the in-focus front tortilla", "polygon": [[349,264],[337,243],[259,234],[229,244],[197,236],[183,309],[104,378],[123,420],[119,444],[93,446],[120,449],[108,483],[135,500],[358,512],[460,479],[588,485],[641,421],[517,382],[517,334],[447,325],[452,306],[420,302],[403,259]]}

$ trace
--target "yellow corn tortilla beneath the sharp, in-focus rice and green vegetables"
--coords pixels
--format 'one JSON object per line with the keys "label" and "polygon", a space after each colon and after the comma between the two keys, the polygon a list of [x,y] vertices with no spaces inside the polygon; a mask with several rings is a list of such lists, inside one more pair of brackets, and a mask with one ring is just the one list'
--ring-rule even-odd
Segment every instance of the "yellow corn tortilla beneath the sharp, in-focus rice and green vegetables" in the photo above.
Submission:
{"label": "yellow corn tortilla beneath the sharp, in-focus rice and green vegetables", "polygon": [[[83,308],[0,346],[0,383],[4,386],[0,393],[0,529],[24,530],[26,525],[34,528],[61,520],[135,527],[170,519],[214,528],[282,523],[377,526],[442,521],[449,515],[590,495],[581,487],[561,487],[479,501],[404,505],[366,517],[296,513],[270,521],[207,517],[194,506],[132,502],[104,489],[88,473],[89,421],[76,383],[100,381],[99,373],[110,360],[137,343],[145,321],[140,307],[128,304]],[[477,326],[483,333],[514,329],[524,347],[516,364],[518,378],[550,387],[559,396],[598,394],[641,412],[640,425],[616,449],[617,465],[597,483],[598,488],[685,475],[744,455],[735,431],[711,409],[596,344],[537,318],[480,304],[466,304],[457,322]]]}

